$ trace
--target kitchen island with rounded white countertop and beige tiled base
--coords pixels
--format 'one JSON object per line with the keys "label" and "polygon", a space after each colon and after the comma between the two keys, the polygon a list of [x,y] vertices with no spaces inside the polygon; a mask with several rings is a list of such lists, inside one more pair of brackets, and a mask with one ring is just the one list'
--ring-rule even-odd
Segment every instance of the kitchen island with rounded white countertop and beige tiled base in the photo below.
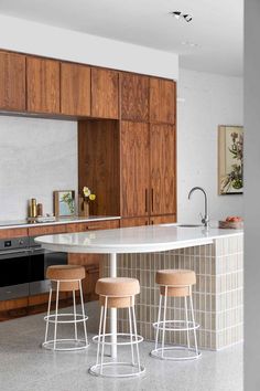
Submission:
{"label": "kitchen island with rounded white countertop and beige tiled base", "polygon": [[[159,306],[155,272],[194,270],[195,318],[201,325],[198,346],[218,350],[242,340],[242,231],[164,224],[46,235],[36,242],[52,251],[108,254],[101,264],[104,276],[138,278],[138,327],[148,340],[154,339],[152,323]],[[117,328],[126,330],[126,316],[123,310],[111,311],[111,332],[116,334]],[[172,300],[167,316],[184,318],[180,298]],[[182,344],[182,336],[169,334],[166,341]]]}

